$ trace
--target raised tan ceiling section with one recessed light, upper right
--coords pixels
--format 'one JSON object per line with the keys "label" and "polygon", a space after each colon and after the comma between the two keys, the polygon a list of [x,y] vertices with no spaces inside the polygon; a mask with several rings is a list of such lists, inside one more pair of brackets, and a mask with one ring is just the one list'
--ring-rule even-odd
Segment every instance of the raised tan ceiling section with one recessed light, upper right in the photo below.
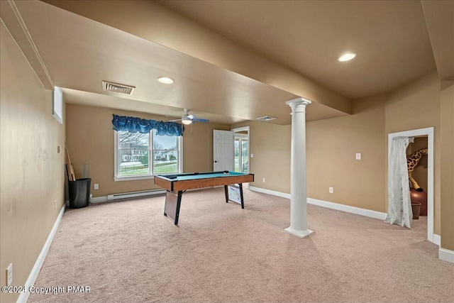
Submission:
{"label": "raised tan ceiling section with one recessed light, upper right", "polygon": [[420,1],[159,2],[350,99],[436,69]]}

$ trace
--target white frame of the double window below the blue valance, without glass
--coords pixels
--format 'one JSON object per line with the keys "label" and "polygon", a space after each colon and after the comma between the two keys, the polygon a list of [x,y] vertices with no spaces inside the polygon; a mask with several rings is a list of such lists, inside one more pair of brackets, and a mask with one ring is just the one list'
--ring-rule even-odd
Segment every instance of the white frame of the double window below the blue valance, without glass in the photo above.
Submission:
{"label": "white frame of the double window below the blue valance, without glass", "polygon": [[[149,175],[137,175],[137,176],[119,176],[118,175],[118,168],[120,167],[120,159],[118,150],[118,131],[114,131],[114,180],[115,181],[131,181],[131,180],[146,180],[146,179],[154,179],[155,175],[153,175],[153,161],[154,161],[154,150],[153,150],[153,133],[150,131],[148,133],[148,167],[150,168]],[[183,136],[177,137],[177,173],[183,172]],[[175,172],[170,172],[170,174],[175,174]],[[168,174],[160,174],[160,175],[168,175]]]}

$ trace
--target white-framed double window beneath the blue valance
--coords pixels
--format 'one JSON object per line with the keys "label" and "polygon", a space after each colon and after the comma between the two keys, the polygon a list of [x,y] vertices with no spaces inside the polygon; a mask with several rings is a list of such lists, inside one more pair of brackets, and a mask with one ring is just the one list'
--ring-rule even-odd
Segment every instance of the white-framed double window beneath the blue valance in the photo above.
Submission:
{"label": "white-framed double window beneath the blue valance", "polygon": [[137,180],[182,172],[182,136],[151,133],[115,134],[115,180]]}

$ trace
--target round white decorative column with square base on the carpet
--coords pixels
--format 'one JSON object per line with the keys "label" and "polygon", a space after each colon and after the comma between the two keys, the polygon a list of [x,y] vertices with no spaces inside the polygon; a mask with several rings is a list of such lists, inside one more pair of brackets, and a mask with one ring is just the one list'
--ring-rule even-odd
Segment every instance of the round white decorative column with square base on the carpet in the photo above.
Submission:
{"label": "round white decorative column with square base on the carpet", "polygon": [[304,238],[314,232],[307,229],[306,192],[306,106],[311,101],[298,98],[285,103],[292,107],[290,226],[285,231]]}

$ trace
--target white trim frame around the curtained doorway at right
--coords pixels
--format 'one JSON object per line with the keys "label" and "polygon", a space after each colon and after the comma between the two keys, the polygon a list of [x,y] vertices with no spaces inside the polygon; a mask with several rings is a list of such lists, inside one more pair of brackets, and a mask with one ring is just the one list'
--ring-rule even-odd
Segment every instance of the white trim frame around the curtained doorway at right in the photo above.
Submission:
{"label": "white trim frame around the curtained doorway at right", "polygon": [[[433,197],[434,197],[434,187],[433,187],[433,159],[434,157],[434,146],[433,146],[433,127],[428,128],[419,128],[413,129],[411,131],[399,131],[397,133],[388,133],[388,163],[389,155],[391,151],[392,139],[400,136],[405,137],[417,137],[417,136],[427,136],[427,240],[432,243],[436,243],[438,246],[439,241],[435,240],[435,235],[433,232]],[[388,172],[389,173],[389,172]],[[388,184],[387,184],[388,185]]]}

